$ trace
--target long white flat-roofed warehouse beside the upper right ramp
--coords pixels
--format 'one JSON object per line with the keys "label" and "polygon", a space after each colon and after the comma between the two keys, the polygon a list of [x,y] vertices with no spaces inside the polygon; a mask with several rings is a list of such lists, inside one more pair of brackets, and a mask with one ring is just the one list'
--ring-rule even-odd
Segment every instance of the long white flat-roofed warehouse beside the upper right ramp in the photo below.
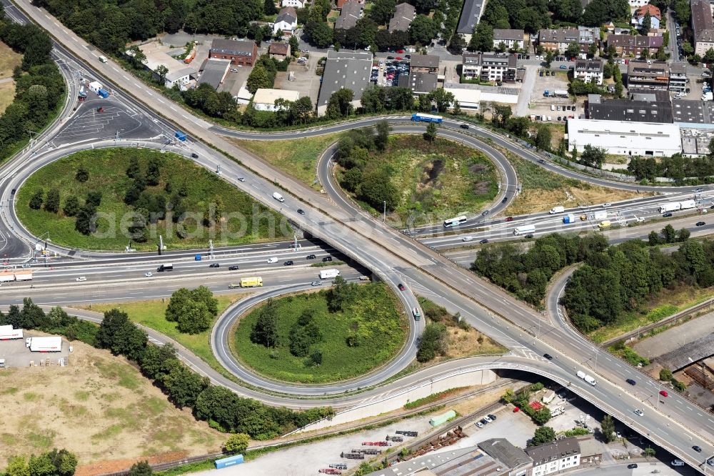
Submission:
{"label": "long white flat-roofed warehouse beside the upper right ramp", "polygon": [[677,124],[568,119],[568,150],[601,147],[608,154],[670,156],[682,152]]}

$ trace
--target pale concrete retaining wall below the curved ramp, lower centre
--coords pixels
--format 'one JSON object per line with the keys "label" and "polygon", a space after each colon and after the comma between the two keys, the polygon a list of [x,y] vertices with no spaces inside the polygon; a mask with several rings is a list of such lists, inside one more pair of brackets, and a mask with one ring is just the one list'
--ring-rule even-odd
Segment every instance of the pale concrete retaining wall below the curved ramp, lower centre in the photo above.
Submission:
{"label": "pale concrete retaining wall below the curved ramp, lower centre", "polygon": [[341,425],[343,423],[374,417],[382,413],[391,412],[403,407],[408,402],[428,397],[438,392],[443,392],[456,387],[471,387],[474,385],[488,385],[496,381],[496,372],[493,370],[474,370],[473,372],[456,373],[444,377],[436,377],[411,387],[396,390],[391,395],[380,395],[372,400],[363,402],[348,410],[339,412],[331,420],[325,419],[296,430],[294,433],[321,430],[322,428]]}

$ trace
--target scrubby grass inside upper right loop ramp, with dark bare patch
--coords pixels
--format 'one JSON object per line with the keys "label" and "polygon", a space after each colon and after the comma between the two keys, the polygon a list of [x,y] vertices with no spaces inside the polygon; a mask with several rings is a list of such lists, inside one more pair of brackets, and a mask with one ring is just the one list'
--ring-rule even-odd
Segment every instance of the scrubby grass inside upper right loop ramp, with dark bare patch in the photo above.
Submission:
{"label": "scrubby grass inside upper right loop ramp, with dark bare patch", "polygon": [[[477,212],[498,194],[493,163],[481,152],[446,139],[430,143],[421,135],[391,136],[378,162],[402,191],[398,206],[387,217],[399,226]],[[382,212],[362,205],[373,214]]]}

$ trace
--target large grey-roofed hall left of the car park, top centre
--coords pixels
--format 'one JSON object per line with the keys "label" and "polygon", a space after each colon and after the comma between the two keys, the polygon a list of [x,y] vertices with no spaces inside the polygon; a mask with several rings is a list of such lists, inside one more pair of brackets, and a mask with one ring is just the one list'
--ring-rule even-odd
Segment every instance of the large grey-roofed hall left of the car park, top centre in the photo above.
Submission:
{"label": "large grey-roofed hall left of the car park, top centre", "polygon": [[372,54],[364,51],[327,51],[325,72],[318,95],[319,115],[325,114],[330,96],[339,89],[351,89],[354,92],[354,106],[360,105],[362,92],[369,85],[372,59]]}

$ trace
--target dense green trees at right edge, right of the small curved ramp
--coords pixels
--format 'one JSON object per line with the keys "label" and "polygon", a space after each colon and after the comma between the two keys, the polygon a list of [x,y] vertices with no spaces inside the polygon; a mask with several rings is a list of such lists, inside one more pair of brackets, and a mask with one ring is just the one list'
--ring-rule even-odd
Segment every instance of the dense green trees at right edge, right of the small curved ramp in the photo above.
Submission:
{"label": "dense green trees at right edge, right of the small curved ramp", "polygon": [[665,254],[631,240],[586,257],[565,287],[562,304],[573,324],[590,332],[616,322],[623,312],[638,311],[663,288],[713,284],[713,241],[688,240]]}

